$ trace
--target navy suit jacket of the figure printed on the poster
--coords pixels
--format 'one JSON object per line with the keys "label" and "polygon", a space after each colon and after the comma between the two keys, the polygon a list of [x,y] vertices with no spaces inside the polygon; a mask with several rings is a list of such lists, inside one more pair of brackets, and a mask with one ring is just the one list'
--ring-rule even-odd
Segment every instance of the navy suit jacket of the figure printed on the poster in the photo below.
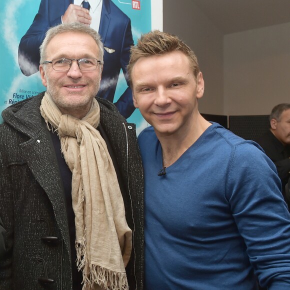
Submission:
{"label": "navy suit jacket of the figure printed on the poster", "polygon": [[[28,76],[38,71],[38,48],[44,39],[45,32],[49,27],[61,23],[61,15],[70,3],[73,3],[73,0],[41,0],[38,13],[21,38],[18,47],[18,63],[24,75]],[[120,69],[127,81],[126,65],[129,60],[129,49],[133,44],[130,18],[111,0],[102,0],[98,32],[102,37],[104,47],[114,49],[114,52],[110,50],[111,53],[104,49],[104,65],[98,96],[112,102]],[[32,70],[25,67],[23,56],[33,65]],[[114,81],[111,81],[107,87],[104,83],[109,82],[110,79]],[[135,109],[128,81],[127,85],[126,90],[114,103],[125,118],[129,117]]]}

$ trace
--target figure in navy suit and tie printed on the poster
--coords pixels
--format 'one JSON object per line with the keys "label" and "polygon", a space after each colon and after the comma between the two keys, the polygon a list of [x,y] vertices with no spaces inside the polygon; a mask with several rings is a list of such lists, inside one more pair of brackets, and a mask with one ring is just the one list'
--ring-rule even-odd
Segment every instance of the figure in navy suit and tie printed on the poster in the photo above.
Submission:
{"label": "figure in navy suit and tie printed on the poster", "polygon": [[[18,63],[24,75],[38,71],[39,45],[49,27],[60,23],[81,22],[98,31],[104,44],[104,66],[98,95],[114,101],[128,118],[134,111],[132,91],[127,81],[126,65],[133,45],[130,18],[111,0],[41,0],[37,14],[18,47]],[[122,69],[127,88],[114,100]]]}

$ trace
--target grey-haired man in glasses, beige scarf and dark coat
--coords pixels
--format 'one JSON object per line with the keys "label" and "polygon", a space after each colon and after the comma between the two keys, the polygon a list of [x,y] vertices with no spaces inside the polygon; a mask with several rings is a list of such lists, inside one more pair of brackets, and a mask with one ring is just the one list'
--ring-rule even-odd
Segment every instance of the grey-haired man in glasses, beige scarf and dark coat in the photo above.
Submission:
{"label": "grey-haired man in glasses, beige scarf and dark coat", "polygon": [[99,34],[51,27],[40,46],[46,91],[0,125],[0,289],[142,289],[143,179],[134,124],[96,97]]}

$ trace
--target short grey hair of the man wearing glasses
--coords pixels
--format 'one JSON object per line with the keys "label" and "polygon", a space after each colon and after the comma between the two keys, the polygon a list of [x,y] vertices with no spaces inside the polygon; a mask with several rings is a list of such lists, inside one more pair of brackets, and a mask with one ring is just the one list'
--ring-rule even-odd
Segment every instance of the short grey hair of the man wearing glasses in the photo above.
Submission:
{"label": "short grey hair of the man wearing glasses", "polygon": [[98,47],[100,58],[99,60],[101,63],[103,63],[103,43],[101,42],[100,35],[94,29],[79,22],[62,23],[56,26],[52,26],[46,31],[45,38],[39,46],[40,63],[43,63],[43,61],[46,60],[46,49],[49,41],[57,34],[64,32],[79,32],[90,35]]}

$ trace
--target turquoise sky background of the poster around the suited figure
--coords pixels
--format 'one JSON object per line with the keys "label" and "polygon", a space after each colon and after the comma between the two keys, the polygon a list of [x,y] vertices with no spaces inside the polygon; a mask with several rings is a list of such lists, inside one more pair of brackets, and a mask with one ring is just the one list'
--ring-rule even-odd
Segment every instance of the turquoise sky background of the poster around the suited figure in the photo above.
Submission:
{"label": "turquoise sky background of the poster around the suited figure", "polygon": [[[124,13],[126,13],[132,24],[133,40],[141,35],[142,32],[151,29],[151,1],[139,0],[140,10],[132,9],[131,0],[112,0]],[[154,0],[152,0],[154,1]],[[161,0],[155,0],[160,2]],[[162,2],[162,1],[161,1]],[[13,101],[18,101],[31,95],[35,95],[45,89],[41,84],[39,73],[29,77],[24,76],[18,66],[17,51],[20,38],[38,11],[40,0],[13,0],[5,1],[0,11],[0,50],[1,50],[1,69],[0,69],[0,111]],[[122,91],[125,80],[122,75],[119,77],[117,90]],[[0,118],[0,121],[2,119]],[[138,131],[145,125],[138,110],[128,121],[135,122]]]}

